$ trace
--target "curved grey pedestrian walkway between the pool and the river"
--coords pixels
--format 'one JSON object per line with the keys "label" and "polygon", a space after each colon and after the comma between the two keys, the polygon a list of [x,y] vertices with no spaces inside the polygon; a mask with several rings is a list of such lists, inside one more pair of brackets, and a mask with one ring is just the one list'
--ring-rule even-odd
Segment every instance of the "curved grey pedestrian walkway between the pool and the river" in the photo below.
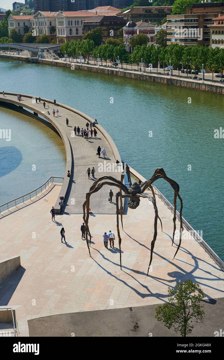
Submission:
{"label": "curved grey pedestrian walkway between the pool and the river", "polygon": [[[38,97],[37,97],[38,98]],[[96,155],[97,148],[100,146],[101,149],[105,147],[107,151],[107,157],[105,159],[105,164],[115,164],[118,159],[121,162],[120,155],[114,144],[113,140],[109,134],[103,129],[102,126],[97,125],[97,138],[89,138],[89,141],[86,141],[80,136],[74,136],[73,129],[74,126],[79,126],[80,129],[86,128],[86,122],[93,122],[93,119],[84,113],[77,111],[69,106],[66,106],[61,103],[54,105],[52,100],[41,98],[41,103],[37,100],[35,102],[34,96],[22,94],[22,101],[18,102],[17,94],[14,93],[0,93],[0,102],[14,104],[20,107],[24,107],[33,111],[34,113],[41,115],[46,120],[50,121],[55,129],[59,132],[66,149],[67,165],[64,173],[64,183],[62,185],[62,195],[66,194],[64,201],[64,211],[69,214],[81,214],[82,213],[82,204],[85,201],[85,194],[89,191],[90,186],[93,184],[93,179],[88,179],[86,171],[88,167],[95,168],[96,173],[95,177],[98,178],[104,175],[111,175],[116,179],[121,179],[121,173],[112,171],[112,172],[100,172],[100,165],[104,164],[104,159],[98,158]],[[46,103],[46,108],[44,109],[43,102]],[[48,109],[49,103],[49,109]],[[53,109],[55,111],[58,109],[59,116],[55,113],[53,117]],[[48,111],[50,115],[48,115]],[[66,125],[66,118],[68,118],[69,123]],[[90,130],[90,128],[89,128]],[[72,176],[67,177],[67,171],[70,170]],[[103,170],[106,170],[106,165]],[[113,170],[113,167],[111,167]],[[100,214],[115,214],[116,206],[114,203],[108,202],[109,196],[109,186],[105,185],[97,193],[93,194],[90,199],[91,212],[100,213]],[[59,199],[57,199],[55,204],[56,212],[59,212]]]}

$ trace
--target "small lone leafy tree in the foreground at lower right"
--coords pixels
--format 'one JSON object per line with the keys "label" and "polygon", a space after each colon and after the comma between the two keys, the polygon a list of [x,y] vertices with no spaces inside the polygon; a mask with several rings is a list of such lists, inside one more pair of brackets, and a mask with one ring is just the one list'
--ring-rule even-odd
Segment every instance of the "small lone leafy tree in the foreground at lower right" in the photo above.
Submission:
{"label": "small lone leafy tree in the foreground at lower right", "polygon": [[168,288],[168,302],[156,308],[155,318],[166,328],[174,328],[182,337],[191,334],[194,324],[203,320],[205,311],[200,302],[205,298],[200,285],[186,280],[175,289]]}

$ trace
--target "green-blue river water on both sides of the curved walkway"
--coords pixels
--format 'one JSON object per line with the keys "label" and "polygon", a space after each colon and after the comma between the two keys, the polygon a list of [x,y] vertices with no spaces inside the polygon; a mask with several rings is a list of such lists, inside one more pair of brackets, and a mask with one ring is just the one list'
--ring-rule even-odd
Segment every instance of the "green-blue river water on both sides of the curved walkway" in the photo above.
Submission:
{"label": "green-blue river water on both sides of the curved walkway", "polygon": [[[115,141],[122,160],[145,178],[149,179],[157,167],[163,167],[167,176],[180,185],[183,216],[224,259],[221,195],[224,139],[214,138],[215,129],[224,129],[223,97],[10,59],[0,59],[0,84],[1,90],[55,98],[97,118]],[[56,139],[53,131],[44,130],[41,124],[33,127],[32,119],[4,109],[5,115],[6,112],[5,119],[13,122],[13,129],[23,137],[14,145],[15,169],[1,178],[1,190],[8,198],[14,186],[20,195],[39,186],[50,175],[63,176],[65,158],[62,141]],[[0,127],[2,119],[3,116]],[[24,136],[27,131],[37,131],[38,141],[27,140]],[[3,147],[12,145],[11,141]],[[24,163],[30,167],[33,163],[29,152],[36,154],[35,161],[44,176],[32,172],[27,188],[21,166]],[[169,184],[160,179],[154,185],[173,202]]]}

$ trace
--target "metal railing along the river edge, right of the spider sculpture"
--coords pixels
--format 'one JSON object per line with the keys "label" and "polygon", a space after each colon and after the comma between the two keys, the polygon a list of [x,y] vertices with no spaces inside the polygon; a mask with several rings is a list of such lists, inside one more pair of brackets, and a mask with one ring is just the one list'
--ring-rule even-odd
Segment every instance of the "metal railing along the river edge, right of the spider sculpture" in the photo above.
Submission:
{"label": "metal railing along the river edge, right of the spider sculpture", "polygon": [[[131,171],[130,174],[135,179],[138,179],[138,177],[136,177],[136,175],[133,175]],[[155,194],[158,195],[158,198],[162,200],[162,202],[167,206],[169,210],[171,210],[171,213],[174,213],[173,205],[165,198],[165,196],[160,192],[160,190],[156,188],[156,186],[152,185],[152,187],[154,188]],[[148,188],[148,190],[150,189]],[[180,213],[178,211],[176,211],[176,218],[180,221]],[[184,219],[183,216],[182,216],[182,221],[184,228],[191,232],[191,235],[193,236],[194,240],[196,240],[200,244],[200,246],[205,250],[205,252],[215,261],[215,264],[218,265],[222,271],[224,271],[224,262],[220,259],[220,257],[210,248],[210,246],[205,242],[205,240],[203,240],[201,236],[198,235],[197,231],[194,230],[190,224],[188,224],[188,222]]]}

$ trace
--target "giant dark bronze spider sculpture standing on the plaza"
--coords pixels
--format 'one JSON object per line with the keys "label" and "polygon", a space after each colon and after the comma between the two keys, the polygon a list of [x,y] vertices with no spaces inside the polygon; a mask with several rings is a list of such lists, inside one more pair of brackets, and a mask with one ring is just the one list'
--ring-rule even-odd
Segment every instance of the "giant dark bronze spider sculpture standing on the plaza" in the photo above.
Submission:
{"label": "giant dark bronze spider sculpture standing on the plaza", "polygon": [[[158,209],[157,209],[157,206],[156,206],[156,197],[155,197],[155,193],[154,193],[154,190],[153,190],[153,187],[152,187],[152,183],[154,183],[154,181],[156,181],[156,180],[158,180],[160,178],[163,178],[166,181],[168,181],[168,183],[171,185],[171,187],[174,190],[174,217],[173,217],[174,230],[173,230],[172,246],[173,246],[173,242],[174,242],[174,234],[175,234],[175,231],[176,231],[176,198],[178,197],[179,200],[180,200],[180,239],[179,239],[179,245],[178,245],[178,248],[176,249],[174,258],[175,258],[176,253],[178,252],[178,250],[180,248],[181,239],[182,239],[182,231],[183,231],[182,209],[183,209],[183,202],[182,202],[182,198],[179,195],[179,185],[174,180],[167,177],[166,174],[165,174],[165,171],[161,167],[158,167],[156,169],[156,171],[154,172],[151,179],[149,179],[147,181],[144,181],[144,183],[142,183],[141,185],[139,185],[138,183],[133,183],[133,184],[131,183],[131,176],[130,176],[130,170],[129,170],[128,165],[126,165],[126,174],[127,174],[127,177],[128,177],[129,189],[120,180],[117,180],[112,176],[102,176],[102,177],[99,177],[99,179],[97,179],[94,182],[94,184],[90,187],[89,192],[86,193],[86,201],[82,205],[82,207],[83,207],[83,220],[85,222],[86,243],[87,243],[87,246],[88,246],[88,249],[89,249],[89,255],[91,257],[90,247],[89,247],[89,242],[88,242],[88,233],[89,233],[89,235],[90,235],[90,244],[91,244],[91,234],[90,234],[89,225],[88,225],[89,224],[90,195],[92,195],[93,193],[98,192],[102,188],[103,185],[116,186],[117,188],[120,188],[120,191],[118,191],[116,193],[116,214],[117,214],[117,235],[118,235],[118,243],[119,243],[119,250],[120,250],[120,266],[121,266],[121,236],[120,236],[120,230],[119,230],[119,205],[118,205],[119,198],[120,198],[120,215],[121,215],[122,230],[123,230],[122,198],[129,198],[129,200],[127,202],[127,205],[131,209],[136,209],[139,206],[141,197],[142,198],[148,198],[149,201],[152,202],[153,207],[154,207],[154,212],[155,212],[154,235],[153,235],[153,239],[152,239],[152,242],[151,242],[151,256],[150,256],[150,262],[149,262],[149,266],[148,266],[148,272],[149,272],[149,267],[150,267],[151,262],[152,262],[154,244],[155,244],[156,237],[157,237],[157,219],[160,220],[161,228],[162,228],[162,221],[161,221],[160,217],[158,216]],[[124,179],[124,176],[123,176],[123,179]],[[106,181],[101,183],[100,181],[102,181],[102,180],[106,180]],[[108,181],[108,180],[110,180],[110,181]],[[148,188],[151,190],[152,195],[151,194],[144,194],[145,190],[148,189]],[[122,191],[124,192],[124,195],[122,195]],[[85,208],[86,208],[86,213],[85,213]],[[148,272],[147,272],[147,275],[148,275]]]}

